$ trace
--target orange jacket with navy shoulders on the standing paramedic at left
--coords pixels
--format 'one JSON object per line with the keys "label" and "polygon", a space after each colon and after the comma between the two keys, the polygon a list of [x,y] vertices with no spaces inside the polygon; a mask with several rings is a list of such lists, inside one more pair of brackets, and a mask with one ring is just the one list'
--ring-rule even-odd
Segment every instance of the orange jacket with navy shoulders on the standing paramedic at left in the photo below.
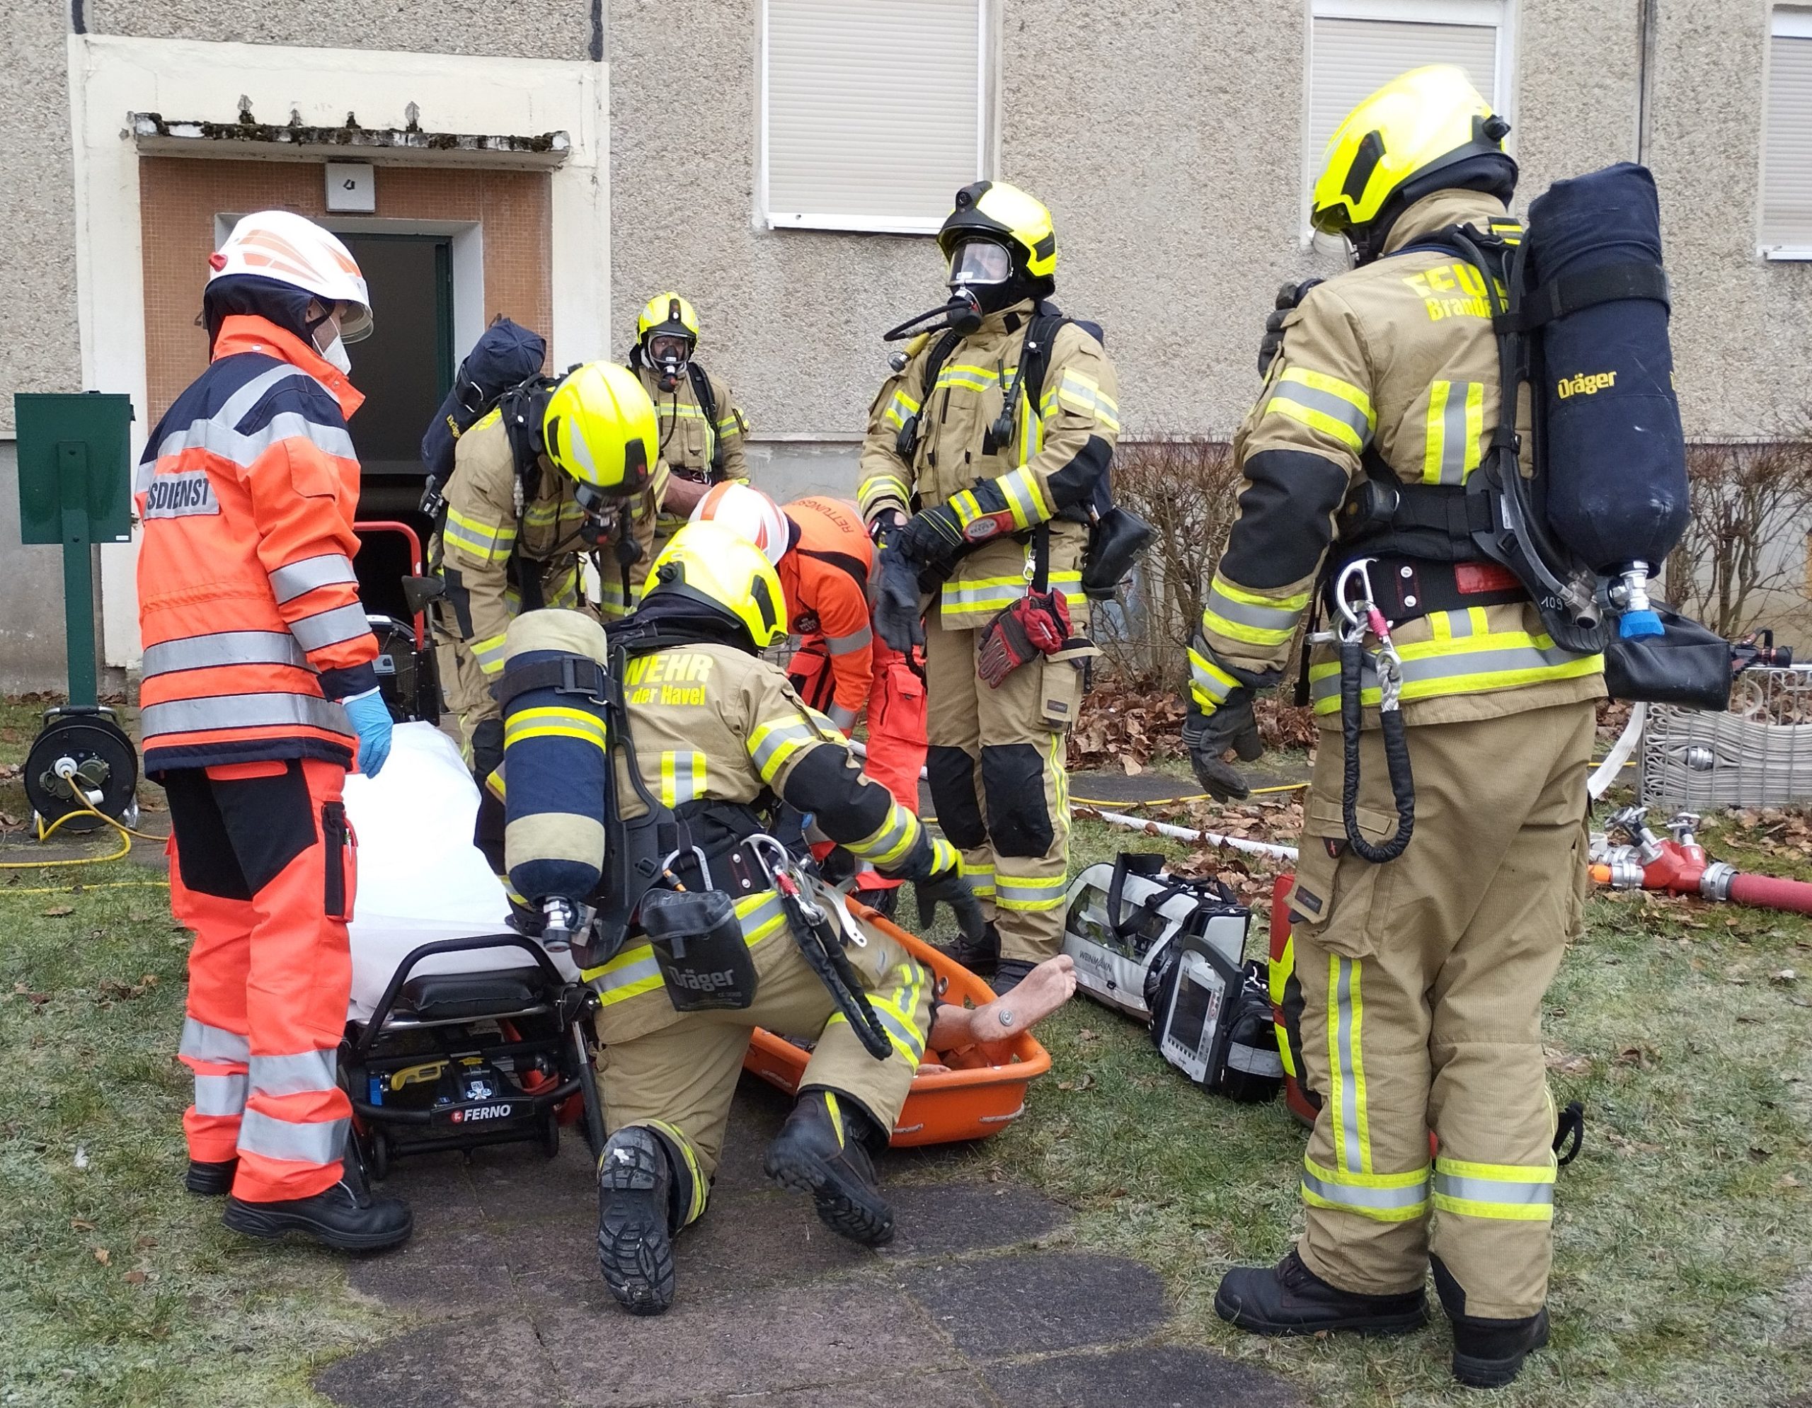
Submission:
{"label": "orange jacket with navy shoulders on the standing paramedic at left", "polygon": [[377,687],[352,531],[364,397],[299,337],[225,319],[207,371],[150,433],[138,631],[145,772],[326,757],[352,765],[335,699]]}

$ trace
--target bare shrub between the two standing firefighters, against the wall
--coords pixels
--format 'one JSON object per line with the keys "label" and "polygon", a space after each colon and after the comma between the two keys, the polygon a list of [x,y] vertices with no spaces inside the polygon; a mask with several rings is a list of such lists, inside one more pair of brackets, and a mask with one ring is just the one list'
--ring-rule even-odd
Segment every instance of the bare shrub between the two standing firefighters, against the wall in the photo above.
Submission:
{"label": "bare shrub between the two standing firefighters, against the wall", "polygon": [[1114,451],[1114,500],[1158,536],[1118,611],[1100,611],[1096,641],[1123,680],[1183,689],[1185,651],[1232,527],[1239,471],[1232,446],[1163,435]]}

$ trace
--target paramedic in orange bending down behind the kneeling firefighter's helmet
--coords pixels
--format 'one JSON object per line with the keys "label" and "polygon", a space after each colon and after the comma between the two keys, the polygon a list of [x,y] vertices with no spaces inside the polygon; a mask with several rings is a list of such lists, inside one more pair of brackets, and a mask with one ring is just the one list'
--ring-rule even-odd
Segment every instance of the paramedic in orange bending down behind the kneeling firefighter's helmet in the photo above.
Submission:
{"label": "paramedic in orange bending down behind the kneeling firefighter's helmet", "polygon": [[[719,484],[692,516],[723,522],[766,553],[786,593],[786,618],[803,636],[786,661],[792,687],[846,734],[868,710],[863,772],[917,815],[926,754],[924,661],[906,660],[870,627],[875,549],[855,504],[814,495],[776,507],[759,489]],[[855,899],[892,915],[899,884],[864,866]]]}

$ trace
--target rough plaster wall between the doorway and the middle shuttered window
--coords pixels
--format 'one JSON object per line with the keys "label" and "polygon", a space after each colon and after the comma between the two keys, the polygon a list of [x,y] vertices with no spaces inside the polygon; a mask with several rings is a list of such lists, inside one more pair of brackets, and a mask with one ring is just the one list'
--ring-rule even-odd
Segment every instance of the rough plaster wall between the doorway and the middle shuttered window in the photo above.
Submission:
{"label": "rough plaster wall between the doorway and the middle shuttered window", "polygon": [[678,288],[756,435],[859,435],[881,332],[944,297],[937,246],[754,227],[756,33],[756,0],[611,4],[612,346]]}

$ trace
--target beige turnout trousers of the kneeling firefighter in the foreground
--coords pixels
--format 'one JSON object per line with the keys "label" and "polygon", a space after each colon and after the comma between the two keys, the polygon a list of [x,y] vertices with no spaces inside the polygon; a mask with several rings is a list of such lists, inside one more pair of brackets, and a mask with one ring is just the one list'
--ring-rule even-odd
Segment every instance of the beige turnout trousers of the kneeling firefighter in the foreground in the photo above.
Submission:
{"label": "beige turnout trousers of the kneeling firefighter in the foreground", "polygon": [[[868,942],[846,946],[844,955],[888,1027],[893,1049],[886,1060],[868,1055],[785,926],[750,946],[757,973],[750,1008],[678,1013],[665,1026],[627,1040],[620,1035],[612,1040],[612,1008],[598,1013],[603,1046],[598,1096],[605,1129],[614,1134],[629,1125],[647,1125],[681,1152],[685,1169],[678,1172],[681,1181],[690,1181],[685,1221],[705,1210],[710,1180],[723,1156],[730,1098],[754,1027],[817,1044],[801,1089],[821,1087],[853,1098],[890,1133],[899,1122],[931,1026],[931,975],[879,930],[863,921],[857,924]],[[640,948],[647,951],[647,944]],[[638,962],[636,950],[625,950],[614,962],[623,960]],[[638,1006],[665,1002],[665,989],[636,998]],[[634,1026],[629,1029],[645,1026],[645,1015],[640,1020],[631,1017]]]}

